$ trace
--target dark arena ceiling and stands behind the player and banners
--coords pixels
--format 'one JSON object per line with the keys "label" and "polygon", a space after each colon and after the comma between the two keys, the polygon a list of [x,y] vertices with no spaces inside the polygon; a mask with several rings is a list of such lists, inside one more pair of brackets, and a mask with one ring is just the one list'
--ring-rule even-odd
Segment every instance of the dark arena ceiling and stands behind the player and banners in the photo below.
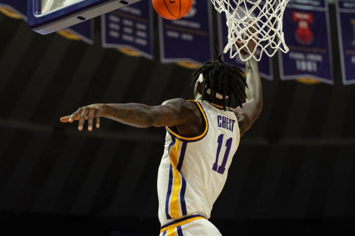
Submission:
{"label": "dark arena ceiling and stands behind the player and banners", "polygon": [[[355,234],[355,86],[343,85],[333,4],[329,13],[334,84],[282,81],[272,58],[262,113],[213,206],[222,235]],[[0,13],[0,235],[159,234],[165,128],[102,119],[78,132],[59,118],[92,103],[192,99],[195,69],[160,62],[157,27],[146,59],[103,48],[94,22],[89,45]]]}

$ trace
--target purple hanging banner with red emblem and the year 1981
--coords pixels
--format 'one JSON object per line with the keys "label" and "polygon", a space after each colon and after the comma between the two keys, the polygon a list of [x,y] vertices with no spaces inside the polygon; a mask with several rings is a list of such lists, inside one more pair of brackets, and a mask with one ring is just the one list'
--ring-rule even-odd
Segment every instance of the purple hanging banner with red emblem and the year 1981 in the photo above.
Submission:
{"label": "purple hanging banner with red emblem and the year 1981", "polygon": [[328,4],[290,0],[283,18],[288,53],[279,51],[281,80],[333,84]]}

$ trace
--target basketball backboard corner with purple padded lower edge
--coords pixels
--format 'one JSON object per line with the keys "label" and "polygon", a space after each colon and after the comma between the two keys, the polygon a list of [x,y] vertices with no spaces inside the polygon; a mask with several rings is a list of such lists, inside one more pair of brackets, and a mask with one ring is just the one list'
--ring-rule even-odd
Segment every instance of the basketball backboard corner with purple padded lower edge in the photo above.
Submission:
{"label": "basketball backboard corner with purple padded lower edge", "polygon": [[49,34],[140,0],[28,0],[29,28]]}

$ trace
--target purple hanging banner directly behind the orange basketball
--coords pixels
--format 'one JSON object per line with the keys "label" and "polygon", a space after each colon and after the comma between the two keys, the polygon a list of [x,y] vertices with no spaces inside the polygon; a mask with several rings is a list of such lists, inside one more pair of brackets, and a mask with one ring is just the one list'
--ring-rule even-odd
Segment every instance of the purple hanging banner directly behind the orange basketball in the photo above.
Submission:
{"label": "purple hanging banner directly behind the orange basketball", "polygon": [[212,57],[212,4],[193,1],[191,10],[181,19],[159,18],[160,60],[198,68]]}

